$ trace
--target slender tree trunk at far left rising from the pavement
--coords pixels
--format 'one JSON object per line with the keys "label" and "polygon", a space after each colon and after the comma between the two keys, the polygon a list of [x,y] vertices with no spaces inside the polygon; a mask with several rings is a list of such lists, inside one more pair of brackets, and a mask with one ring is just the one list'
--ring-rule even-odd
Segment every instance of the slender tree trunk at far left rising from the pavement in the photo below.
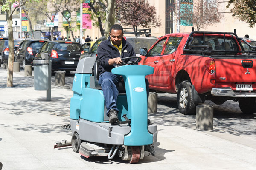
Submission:
{"label": "slender tree trunk at far left rising from the pavement", "polygon": [[[11,6],[10,6],[11,9]],[[9,56],[8,56],[8,70],[7,70],[7,87],[12,87],[13,79],[13,60],[14,60],[14,47],[13,47],[13,31],[12,31],[12,16],[11,10],[6,11],[6,21],[8,24],[8,46],[9,46]]]}

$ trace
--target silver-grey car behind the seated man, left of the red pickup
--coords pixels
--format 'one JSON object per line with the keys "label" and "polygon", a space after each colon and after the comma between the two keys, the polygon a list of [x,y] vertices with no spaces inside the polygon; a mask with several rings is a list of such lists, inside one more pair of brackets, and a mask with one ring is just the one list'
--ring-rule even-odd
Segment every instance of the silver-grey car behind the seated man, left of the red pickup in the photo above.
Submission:
{"label": "silver-grey car behind the seated man, left of the red pickup", "polygon": [[[157,37],[124,37],[134,48],[136,56],[140,56],[140,48],[150,48],[157,40]],[[80,59],[84,57],[97,56],[97,49],[99,44],[105,40],[105,37],[99,38],[92,46],[89,48],[89,52],[84,52],[81,54]],[[87,49],[88,50],[88,49]],[[86,50],[86,51],[87,51]]]}

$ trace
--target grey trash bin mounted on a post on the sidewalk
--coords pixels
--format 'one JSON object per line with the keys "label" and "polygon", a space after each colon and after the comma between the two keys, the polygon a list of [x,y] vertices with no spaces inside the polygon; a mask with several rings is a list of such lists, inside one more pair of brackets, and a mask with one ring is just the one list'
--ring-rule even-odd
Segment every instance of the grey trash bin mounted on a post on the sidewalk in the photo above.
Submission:
{"label": "grey trash bin mounted on a post on the sidewalk", "polygon": [[47,101],[51,101],[51,60],[34,60],[34,89],[46,90]]}

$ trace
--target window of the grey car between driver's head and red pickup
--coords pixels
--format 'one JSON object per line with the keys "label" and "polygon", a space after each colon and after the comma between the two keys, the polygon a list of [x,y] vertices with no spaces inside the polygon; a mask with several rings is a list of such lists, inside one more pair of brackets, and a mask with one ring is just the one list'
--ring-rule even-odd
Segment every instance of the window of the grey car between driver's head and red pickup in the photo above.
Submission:
{"label": "window of the grey car between driver's head and red pickup", "polygon": [[126,40],[132,45],[136,54],[140,53],[140,48],[151,48],[151,46],[158,40],[157,38],[129,38],[127,37]]}

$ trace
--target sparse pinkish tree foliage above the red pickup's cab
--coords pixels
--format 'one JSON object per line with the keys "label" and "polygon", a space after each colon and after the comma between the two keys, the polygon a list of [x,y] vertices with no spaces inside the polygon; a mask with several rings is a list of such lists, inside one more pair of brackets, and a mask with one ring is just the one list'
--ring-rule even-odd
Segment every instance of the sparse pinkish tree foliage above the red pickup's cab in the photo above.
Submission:
{"label": "sparse pinkish tree foliage above the red pickup's cab", "polygon": [[220,22],[222,17],[218,12],[217,0],[194,1],[193,8],[189,5],[183,6],[182,10],[177,14],[178,20],[192,23],[197,28],[197,31]]}

